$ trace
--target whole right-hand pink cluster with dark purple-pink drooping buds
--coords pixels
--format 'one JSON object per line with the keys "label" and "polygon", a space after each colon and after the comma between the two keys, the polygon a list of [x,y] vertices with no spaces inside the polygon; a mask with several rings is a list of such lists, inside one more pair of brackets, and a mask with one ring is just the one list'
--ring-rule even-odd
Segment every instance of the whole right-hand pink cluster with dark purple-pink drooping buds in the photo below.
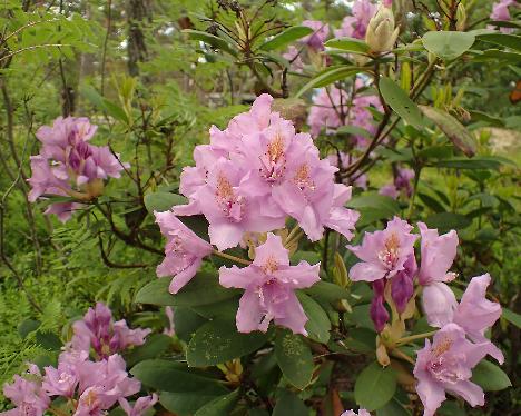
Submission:
{"label": "whole right-hand pink cluster with dark purple-pink drooping buds", "polygon": [[[472,368],[486,355],[503,363],[503,354],[485,336],[500,317],[499,304],[485,298],[490,275],[472,278],[461,301],[446,283],[455,278],[449,269],[456,255],[454,230],[440,236],[423,222],[413,227],[394,218],[382,231],[367,232],[361,246],[348,247],[362,261],[350,270],[354,281],[373,283],[371,317],[379,331],[384,329],[389,313],[384,306],[389,291],[399,313],[405,310],[414,293],[414,280],[423,289],[423,309],[431,326],[441,328],[433,344],[426,340],[417,354],[414,369],[424,415],[434,415],[445,399],[445,392],[463,397],[472,406],[483,405],[481,387],[470,382]],[[414,242],[421,237],[421,264],[416,266]],[[389,300],[387,300],[389,301]]]}

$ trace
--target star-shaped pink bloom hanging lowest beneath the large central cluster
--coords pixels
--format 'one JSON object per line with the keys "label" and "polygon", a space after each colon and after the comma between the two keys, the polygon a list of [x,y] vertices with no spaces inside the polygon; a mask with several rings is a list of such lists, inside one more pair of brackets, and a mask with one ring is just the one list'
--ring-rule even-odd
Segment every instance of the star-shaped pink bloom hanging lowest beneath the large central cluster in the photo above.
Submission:
{"label": "star-shaped pink bloom hanging lowest beneath the large central cluster", "polygon": [[266,242],[255,249],[255,260],[245,268],[233,266],[219,269],[224,287],[245,289],[237,310],[236,324],[240,333],[267,331],[272,320],[295,334],[307,335],[307,317],[295,289],[311,287],[320,280],[320,264],[301,261],[289,266],[288,250],[282,238],[267,235]]}

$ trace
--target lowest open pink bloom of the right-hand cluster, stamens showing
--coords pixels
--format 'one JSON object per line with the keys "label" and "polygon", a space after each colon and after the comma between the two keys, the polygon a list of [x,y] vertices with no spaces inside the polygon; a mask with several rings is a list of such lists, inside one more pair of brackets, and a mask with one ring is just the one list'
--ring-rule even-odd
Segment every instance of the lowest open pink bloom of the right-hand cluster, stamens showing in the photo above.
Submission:
{"label": "lowest open pink bloom of the right-hand cluster, stamens showing", "polygon": [[486,355],[485,345],[472,344],[465,331],[455,324],[440,329],[431,345],[417,351],[414,376],[416,392],[424,406],[424,416],[433,416],[443,400],[445,392],[462,397],[472,407],[484,405],[480,386],[470,380],[472,368]]}

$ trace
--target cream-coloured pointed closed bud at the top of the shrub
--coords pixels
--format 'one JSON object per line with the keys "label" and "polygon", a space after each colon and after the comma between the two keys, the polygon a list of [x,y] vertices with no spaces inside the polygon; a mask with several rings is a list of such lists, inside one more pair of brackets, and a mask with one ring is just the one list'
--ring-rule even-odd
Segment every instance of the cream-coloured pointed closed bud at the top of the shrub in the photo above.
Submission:
{"label": "cream-coloured pointed closed bud at the top of the shrub", "polygon": [[380,6],[376,14],[370,20],[365,43],[374,53],[386,52],[393,49],[400,28],[394,27],[393,11],[385,6]]}

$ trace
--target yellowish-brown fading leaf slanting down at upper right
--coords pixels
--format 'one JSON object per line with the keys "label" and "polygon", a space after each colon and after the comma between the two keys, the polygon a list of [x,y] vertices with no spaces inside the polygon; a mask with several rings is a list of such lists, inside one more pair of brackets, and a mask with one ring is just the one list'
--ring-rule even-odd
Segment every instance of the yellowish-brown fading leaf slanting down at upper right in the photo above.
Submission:
{"label": "yellowish-brown fading leaf slanting down at upper right", "polygon": [[465,156],[475,155],[478,141],[466,128],[450,113],[439,108],[420,106],[422,112],[442,130],[452,143]]}

